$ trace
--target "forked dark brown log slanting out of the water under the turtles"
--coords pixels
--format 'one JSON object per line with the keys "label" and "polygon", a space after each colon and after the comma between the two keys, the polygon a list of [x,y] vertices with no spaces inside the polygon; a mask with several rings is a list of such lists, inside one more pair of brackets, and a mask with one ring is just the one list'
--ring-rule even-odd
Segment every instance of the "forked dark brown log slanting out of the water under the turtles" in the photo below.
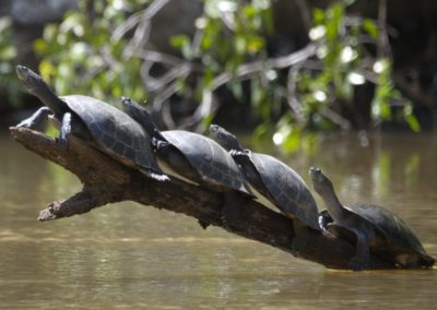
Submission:
{"label": "forked dark brown log slanting out of the water under the turtles", "polygon": [[[50,220],[82,214],[107,203],[132,200],[196,217],[223,227],[221,195],[208,189],[181,181],[157,182],[134,169],[70,136],[69,148],[56,140],[24,128],[11,128],[13,138],[29,151],[70,170],[82,181],[83,190],[73,196],[52,202],[42,211],[39,220]],[[353,255],[353,246],[346,241],[303,228],[293,233],[293,220],[263,205],[241,199],[240,216],[225,229],[332,269],[345,269]],[[293,247],[292,247],[293,243]],[[373,257],[370,267],[392,269]]]}

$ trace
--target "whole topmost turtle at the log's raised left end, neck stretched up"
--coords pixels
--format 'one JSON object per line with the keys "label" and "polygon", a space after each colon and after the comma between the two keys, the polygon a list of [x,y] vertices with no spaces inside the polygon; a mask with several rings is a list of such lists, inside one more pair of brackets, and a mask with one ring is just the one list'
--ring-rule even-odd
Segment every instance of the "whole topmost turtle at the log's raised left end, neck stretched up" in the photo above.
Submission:
{"label": "whole topmost turtle at the log's raised left end, neck stretched up", "polygon": [[169,179],[157,166],[150,136],[128,115],[93,97],[58,97],[40,75],[24,65],[16,67],[16,74],[27,91],[45,105],[16,127],[34,129],[51,115],[60,124],[57,142],[63,147],[68,146],[68,138],[72,133],[147,177],[158,181]]}

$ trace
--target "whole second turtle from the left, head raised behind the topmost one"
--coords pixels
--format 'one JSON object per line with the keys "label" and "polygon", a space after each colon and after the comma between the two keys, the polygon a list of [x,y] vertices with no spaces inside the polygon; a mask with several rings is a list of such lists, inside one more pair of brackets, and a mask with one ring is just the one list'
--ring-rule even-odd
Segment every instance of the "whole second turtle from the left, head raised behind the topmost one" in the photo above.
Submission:
{"label": "whole second turtle from the left, head raised behind the topmost one", "polygon": [[[121,106],[152,138],[152,148],[165,172],[223,193],[224,208],[238,207],[239,198],[253,198],[237,165],[218,143],[185,130],[160,131],[145,108],[129,97],[122,97]],[[199,223],[203,228],[209,225]]]}

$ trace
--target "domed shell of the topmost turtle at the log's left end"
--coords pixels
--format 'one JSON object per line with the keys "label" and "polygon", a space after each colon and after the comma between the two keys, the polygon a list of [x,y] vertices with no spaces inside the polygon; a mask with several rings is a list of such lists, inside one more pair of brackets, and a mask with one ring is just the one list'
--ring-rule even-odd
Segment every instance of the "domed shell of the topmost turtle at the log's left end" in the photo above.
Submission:
{"label": "domed shell of the topmost turtle at the log's left end", "polygon": [[151,139],[127,114],[93,97],[60,97],[84,122],[103,151],[128,166],[160,172]]}

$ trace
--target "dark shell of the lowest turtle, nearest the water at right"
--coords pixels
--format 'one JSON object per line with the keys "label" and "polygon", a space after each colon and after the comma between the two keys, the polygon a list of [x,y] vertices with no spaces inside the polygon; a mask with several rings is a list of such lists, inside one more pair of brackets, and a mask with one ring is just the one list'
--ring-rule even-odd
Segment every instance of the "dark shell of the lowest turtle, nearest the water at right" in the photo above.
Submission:
{"label": "dark shell of the lowest turtle, nearest the water at right", "polygon": [[378,231],[376,251],[389,252],[397,259],[397,263],[405,266],[434,264],[434,259],[426,253],[418,238],[394,213],[379,205],[364,203],[347,206],[347,208],[374,225]]}

